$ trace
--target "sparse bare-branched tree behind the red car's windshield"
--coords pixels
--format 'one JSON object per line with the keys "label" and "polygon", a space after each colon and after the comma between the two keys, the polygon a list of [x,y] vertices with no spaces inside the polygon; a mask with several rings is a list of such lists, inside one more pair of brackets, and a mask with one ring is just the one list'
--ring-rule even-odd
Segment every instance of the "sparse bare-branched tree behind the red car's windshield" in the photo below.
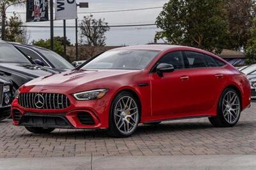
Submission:
{"label": "sparse bare-branched tree behind the red car's windshield", "polygon": [[93,19],[93,15],[84,16],[79,24],[81,27],[81,35],[86,36],[86,43],[90,46],[106,45],[105,33],[109,31],[108,22],[105,19]]}

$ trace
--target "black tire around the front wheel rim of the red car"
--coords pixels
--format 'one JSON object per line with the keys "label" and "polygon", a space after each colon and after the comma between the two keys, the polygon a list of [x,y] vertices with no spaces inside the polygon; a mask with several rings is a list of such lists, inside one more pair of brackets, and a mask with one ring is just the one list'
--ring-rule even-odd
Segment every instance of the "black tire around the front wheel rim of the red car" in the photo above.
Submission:
{"label": "black tire around the front wheel rim of the red car", "polygon": [[[120,98],[122,98],[122,97],[131,97],[136,102],[136,105],[138,106],[138,122],[137,122],[134,130],[129,134],[124,134],[123,132],[121,132],[118,129],[118,127],[116,127],[116,123],[115,123],[115,106],[116,106],[118,100],[120,100]],[[127,91],[121,91],[120,93],[118,93],[118,95],[116,95],[116,97],[114,98],[114,100],[111,104],[111,110],[109,112],[108,135],[111,137],[129,137],[130,135],[132,135],[134,133],[134,131],[138,127],[139,122],[140,122],[140,105],[139,105],[138,99],[135,98],[131,93],[129,93]]]}

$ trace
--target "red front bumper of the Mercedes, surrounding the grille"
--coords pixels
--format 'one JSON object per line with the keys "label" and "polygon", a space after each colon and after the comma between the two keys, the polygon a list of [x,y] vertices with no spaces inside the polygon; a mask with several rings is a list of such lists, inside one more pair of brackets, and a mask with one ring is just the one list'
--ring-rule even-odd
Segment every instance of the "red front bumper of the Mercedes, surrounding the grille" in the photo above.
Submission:
{"label": "red front bumper of the Mercedes, surrounding the grille", "polygon": [[[44,88],[44,93],[63,93],[63,88]],[[40,89],[26,89],[20,93],[38,93]],[[40,92],[40,93],[43,93]],[[108,128],[111,94],[100,100],[78,101],[68,92],[70,105],[65,109],[31,109],[19,105],[17,98],[12,103],[13,125],[54,128]],[[67,122],[60,124],[59,120]]]}

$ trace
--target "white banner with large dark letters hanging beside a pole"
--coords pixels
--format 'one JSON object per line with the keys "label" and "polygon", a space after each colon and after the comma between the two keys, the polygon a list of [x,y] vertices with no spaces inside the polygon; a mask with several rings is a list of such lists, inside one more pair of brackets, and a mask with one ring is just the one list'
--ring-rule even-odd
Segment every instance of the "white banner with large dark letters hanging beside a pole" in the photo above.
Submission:
{"label": "white banner with large dark letters hanging beside a pole", "polygon": [[76,19],[77,4],[76,0],[56,0],[55,3],[55,19]]}

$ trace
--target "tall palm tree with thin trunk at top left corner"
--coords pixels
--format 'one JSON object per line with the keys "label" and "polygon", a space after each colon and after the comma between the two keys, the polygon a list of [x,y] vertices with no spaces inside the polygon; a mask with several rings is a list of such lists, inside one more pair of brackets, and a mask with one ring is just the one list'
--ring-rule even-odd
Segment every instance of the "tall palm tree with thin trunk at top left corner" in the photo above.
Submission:
{"label": "tall palm tree with thin trunk at top left corner", "polygon": [[6,9],[11,5],[23,4],[24,0],[0,0],[0,13],[1,13],[1,37],[5,40],[5,21],[6,21]]}

